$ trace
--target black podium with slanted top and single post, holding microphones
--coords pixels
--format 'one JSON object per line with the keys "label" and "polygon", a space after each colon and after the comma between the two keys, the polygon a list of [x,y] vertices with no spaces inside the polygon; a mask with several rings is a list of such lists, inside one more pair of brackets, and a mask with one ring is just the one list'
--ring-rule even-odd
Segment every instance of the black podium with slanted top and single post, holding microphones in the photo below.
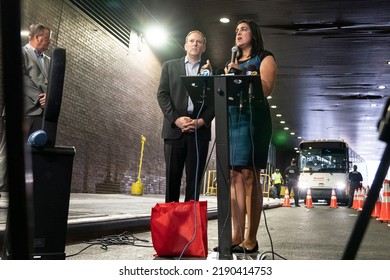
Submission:
{"label": "black podium with slanted top and single post, holding microphones", "polygon": [[266,104],[260,78],[256,76],[183,76],[184,85],[194,104],[215,108],[217,160],[217,207],[219,259],[232,259],[232,222],[230,213],[230,151],[228,106],[244,103]]}

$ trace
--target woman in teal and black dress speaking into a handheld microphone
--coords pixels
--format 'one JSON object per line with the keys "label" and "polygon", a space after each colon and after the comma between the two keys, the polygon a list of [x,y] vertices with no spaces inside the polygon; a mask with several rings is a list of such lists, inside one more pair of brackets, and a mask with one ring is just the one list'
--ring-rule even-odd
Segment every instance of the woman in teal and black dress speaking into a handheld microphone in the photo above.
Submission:
{"label": "woman in teal and black dress speaking into a handheld microphone", "polygon": [[267,96],[274,89],[277,66],[273,54],[264,49],[261,31],[255,22],[240,21],[235,34],[239,48],[237,58],[226,66],[225,73],[241,69],[242,75],[255,74],[262,87],[262,92],[253,93],[255,98],[250,102],[229,106],[232,252],[254,253],[259,249],[256,236],[263,207],[259,175],[260,170],[266,168],[272,134]]}

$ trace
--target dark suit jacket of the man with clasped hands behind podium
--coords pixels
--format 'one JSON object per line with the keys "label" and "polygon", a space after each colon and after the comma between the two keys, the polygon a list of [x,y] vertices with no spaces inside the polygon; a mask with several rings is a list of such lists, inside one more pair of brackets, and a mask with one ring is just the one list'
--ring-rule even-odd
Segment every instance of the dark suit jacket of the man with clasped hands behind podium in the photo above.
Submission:
{"label": "dark suit jacket of the man with clasped hands behind podium", "polygon": [[[204,64],[201,61],[199,68]],[[187,113],[188,93],[184,87],[181,76],[186,75],[184,57],[167,61],[162,66],[160,85],[157,92],[158,103],[164,114],[162,138],[178,139],[182,132],[175,125],[175,120],[182,116],[189,116]],[[194,104],[194,112],[191,117],[198,115],[199,104]],[[205,106],[199,118],[205,121],[197,134],[199,139],[211,140],[211,122],[214,119],[214,107]]]}

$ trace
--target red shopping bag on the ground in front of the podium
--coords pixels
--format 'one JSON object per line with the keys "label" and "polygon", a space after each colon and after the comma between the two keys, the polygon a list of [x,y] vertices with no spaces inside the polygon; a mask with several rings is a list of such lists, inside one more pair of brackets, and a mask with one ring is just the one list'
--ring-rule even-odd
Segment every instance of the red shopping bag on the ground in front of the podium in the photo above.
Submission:
{"label": "red shopping bag on the ground in front of the podium", "polygon": [[157,203],[150,230],[158,256],[207,257],[207,201]]}

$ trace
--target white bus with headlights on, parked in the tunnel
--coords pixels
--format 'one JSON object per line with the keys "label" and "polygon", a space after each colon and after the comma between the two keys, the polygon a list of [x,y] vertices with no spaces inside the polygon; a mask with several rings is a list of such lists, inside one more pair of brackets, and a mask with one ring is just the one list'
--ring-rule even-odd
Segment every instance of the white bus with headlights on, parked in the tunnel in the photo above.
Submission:
{"label": "white bus with headlights on, parked in the tunnel", "polygon": [[334,189],[337,201],[347,203],[348,173],[354,164],[365,176],[365,161],[343,140],[302,141],[298,160],[300,197],[306,198],[310,188],[313,202],[326,200],[329,204]]}

